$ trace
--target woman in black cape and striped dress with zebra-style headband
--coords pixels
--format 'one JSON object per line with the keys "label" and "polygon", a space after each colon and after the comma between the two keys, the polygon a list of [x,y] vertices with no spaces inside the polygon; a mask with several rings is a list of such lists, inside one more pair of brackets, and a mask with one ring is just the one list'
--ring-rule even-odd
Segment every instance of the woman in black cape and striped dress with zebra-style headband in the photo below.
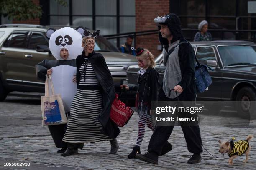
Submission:
{"label": "woman in black cape and striped dress with zebra-style headband", "polygon": [[100,31],[91,34],[79,27],[83,35],[84,51],[76,59],[77,92],[72,102],[70,117],[63,141],[68,143],[62,156],[74,154],[74,143],[99,142],[111,143],[110,154],[118,150],[115,139],[119,128],[110,120],[110,109],[115,98],[115,87],[104,57],[94,51],[95,38]]}

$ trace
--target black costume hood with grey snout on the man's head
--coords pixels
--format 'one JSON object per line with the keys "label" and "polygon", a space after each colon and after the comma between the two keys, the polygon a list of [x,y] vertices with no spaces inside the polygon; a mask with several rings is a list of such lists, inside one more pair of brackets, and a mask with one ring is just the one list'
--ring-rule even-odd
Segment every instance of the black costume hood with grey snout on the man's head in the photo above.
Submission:
{"label": "black costume hood with grey snout on the man's head", "polygon": [[180,19],[176,14],[168,14],[165,15],[164,17],[157,17],[154,19],[154,22],[158,24],[158,34],[159,34],[159,41],[164,47],[169,46],[168,40],[166,38],[163,38],[160,32],[160,24],[167,25],[169,28],[173,38],[171,40],[171,43],[183,38],[184,36],[182,35],[181,31],[181,23]]}

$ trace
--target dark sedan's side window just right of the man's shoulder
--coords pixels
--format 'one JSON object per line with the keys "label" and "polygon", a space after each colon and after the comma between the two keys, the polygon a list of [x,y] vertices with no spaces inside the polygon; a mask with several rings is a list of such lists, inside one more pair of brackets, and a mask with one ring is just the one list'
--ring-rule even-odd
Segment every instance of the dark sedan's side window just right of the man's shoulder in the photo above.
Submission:
{"label": "dark sedan's side window just right of the man's shoulder", "polygon": [[207,60],[216,60],[214,49],[212,47],[197,47],[197,60],[206,63]]}

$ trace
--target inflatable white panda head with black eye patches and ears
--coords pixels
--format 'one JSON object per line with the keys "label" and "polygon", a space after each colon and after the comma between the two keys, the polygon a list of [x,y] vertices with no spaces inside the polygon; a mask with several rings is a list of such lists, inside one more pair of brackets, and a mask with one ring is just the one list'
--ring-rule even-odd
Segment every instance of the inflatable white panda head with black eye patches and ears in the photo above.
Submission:
{"label": "inflatable white panda head with black eye patches and ears", "polygon": [[82,35],[73,28],[64,27],[59,30],[49,28],[46,31],[46,37],[50,39],[49,49],[56,60],[63,60],[60,56],[61,49],[68,50],[67,60],[76,59],[83,51]]}

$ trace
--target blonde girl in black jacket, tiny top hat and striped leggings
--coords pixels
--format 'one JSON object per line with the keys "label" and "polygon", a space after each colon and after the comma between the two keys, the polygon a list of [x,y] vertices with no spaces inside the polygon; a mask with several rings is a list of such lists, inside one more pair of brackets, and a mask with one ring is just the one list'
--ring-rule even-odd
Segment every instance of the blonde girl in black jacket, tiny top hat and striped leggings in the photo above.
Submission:
{"label": "blonde girl in black jacket, tiny top hat and striped leggings", "polygon": [[[138,66],[141,68],[138,71],[138,87],[136,94],[136,111],[139,115],[138,121],[138,137],[136,145],[128,158],[136,158],[136,153],[140,153],[140,145],[145,134],[145,125],[152,131],[155,129],[155,123],[151,115],[151,101],[157,100],[157,82],[158,72],[154,69],[154,56],[148,50],[138,48],[136,50],[136,59]],[[121,85],[121,88],[129,89],[128,85]]]}

